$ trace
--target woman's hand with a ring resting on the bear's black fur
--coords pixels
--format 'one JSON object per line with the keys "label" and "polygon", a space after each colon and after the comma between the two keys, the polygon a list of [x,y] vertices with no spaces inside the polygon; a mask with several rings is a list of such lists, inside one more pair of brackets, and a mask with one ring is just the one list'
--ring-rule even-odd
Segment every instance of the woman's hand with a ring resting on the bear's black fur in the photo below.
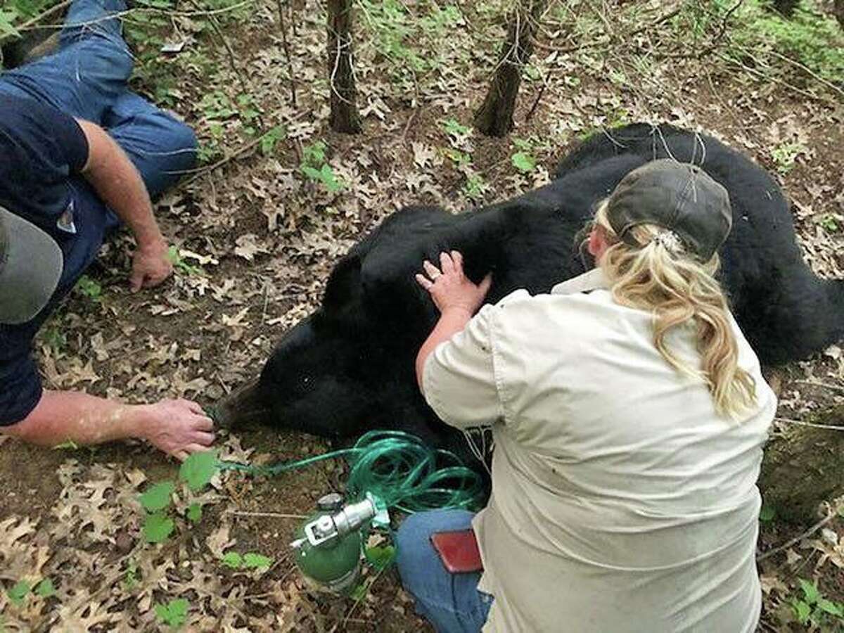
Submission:
{"label": "woman's hand with a ring resting on the bear's black fur", "polygon": [[457,251],[441,252],[440,268],[428,260],[422,262],[422,268],[425,274],[417,274],[416,281],[428,290],[434,305],[443,314],[459,310],[473,316],[484,303],[492,284],[491,273],[480,284],[473,284],[463,273],[463,255]]}

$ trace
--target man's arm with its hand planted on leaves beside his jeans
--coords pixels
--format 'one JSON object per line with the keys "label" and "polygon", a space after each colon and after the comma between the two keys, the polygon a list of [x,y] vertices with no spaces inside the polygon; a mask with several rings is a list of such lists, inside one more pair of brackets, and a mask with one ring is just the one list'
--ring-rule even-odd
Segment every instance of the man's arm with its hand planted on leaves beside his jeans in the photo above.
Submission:
{"label": "man's arm with its hand planted on leaves beside his jeans", "polygon": [[160,284],[173,272],[173,265],[138,170],[106,130],[81,119],[77,122],[88,140],[88,162],[82,170],[83,176],[132,230],[138,242],[131,278],[133,291]]}

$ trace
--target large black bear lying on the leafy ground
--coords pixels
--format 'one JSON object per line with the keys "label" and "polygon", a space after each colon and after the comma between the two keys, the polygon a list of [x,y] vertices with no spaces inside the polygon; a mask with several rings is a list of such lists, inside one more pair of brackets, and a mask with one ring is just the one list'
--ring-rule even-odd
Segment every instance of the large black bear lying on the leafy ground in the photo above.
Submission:
{"label": "large black bear lying on the leafy ground", "polygon": [[595,203],[630,170],[666,156],[701,165],[730,194],[721,278],[763,363],[841,338],[844,282],[818,279],[803,262],[788,203],[766,171],[710,136],[635,124],[587,139],[549,185],[507,202],[458,215],[411,207],[386,219],[337,263],[322,305],[282,338],[257,385],[225,403],[224,419],[257,413],[333,438],[398,428],[465,456],[463,436],[416,387],[414,357],[437,319],[414,280],[421,262],[463,252],[470,278],[492,272],[490,302],[519,288],[547,292],[588,265],[575,238]]}

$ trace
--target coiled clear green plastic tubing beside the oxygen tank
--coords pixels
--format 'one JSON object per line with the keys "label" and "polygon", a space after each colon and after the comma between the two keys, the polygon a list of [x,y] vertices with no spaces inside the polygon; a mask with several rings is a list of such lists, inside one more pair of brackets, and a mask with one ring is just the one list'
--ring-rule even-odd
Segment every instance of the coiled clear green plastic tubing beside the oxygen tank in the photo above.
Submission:
{"label": "coiled clear green plastic tubing beside the oxygen tank", "polygon": [[457,455],[433,449],[418,437],[398,430],[371,430],[354,446],[269,466],[220,462],[222,470],[272,477],[326,459],[345,457],[349,463],[348,494],[370,492],[388,507],[412,513],[438,508],[477,510],[486,490],[478,473]]}

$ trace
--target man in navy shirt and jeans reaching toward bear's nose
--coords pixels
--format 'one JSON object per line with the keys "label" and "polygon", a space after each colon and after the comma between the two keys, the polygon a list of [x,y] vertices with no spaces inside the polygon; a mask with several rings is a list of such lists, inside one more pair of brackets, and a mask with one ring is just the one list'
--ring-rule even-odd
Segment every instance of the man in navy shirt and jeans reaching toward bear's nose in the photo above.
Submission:
{"label": "man in navy shirt and jeans reaching toward bear's nose", "polygon": [[127,405],[41,387],[32,341],[127,225],[133,290],[172,273],[150,196],[194,165],[191,129],[127,87],[123,0],[74,0],[59,50],[0,74],[0,432],[44,446],[134,437],[184,459],[214,441],[187,400]]}

